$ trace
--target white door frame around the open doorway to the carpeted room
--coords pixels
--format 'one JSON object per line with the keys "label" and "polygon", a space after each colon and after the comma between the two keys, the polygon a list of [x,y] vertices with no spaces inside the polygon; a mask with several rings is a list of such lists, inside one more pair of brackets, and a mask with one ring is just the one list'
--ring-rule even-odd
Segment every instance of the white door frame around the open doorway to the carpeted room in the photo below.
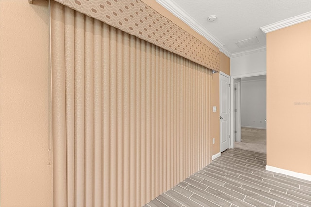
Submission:
{"label": "white door frame around the open doorway to the carpeted room", "polygon": [[[267,75],[267,71],[261,71],[261,72],[254,72],[254,73],[247,73],[247,74],[231,76],[231,78],[230,78],[230,85],[234,86],[234,79],[237,79],[237,78],[247,78],[247,77],[259,76],[259,75]],[[231,94],[231,96],[230,96],[230,107],[234,108],[234,104],[235,104],[235,100],[234,100],[234,87],[230,87],[230,94]],[[240,102],[241,102],[241,99],[240,99]],[[240,111],[240,114],[241,114],[241,111]],[[230,124],[231,124],[231,126],[230,126],[230,129],[231,129],[230,134],[233,135],[234,134],[235,116],[230,116]],[[230,148],[234,148],[234,138],[231,138]]]}

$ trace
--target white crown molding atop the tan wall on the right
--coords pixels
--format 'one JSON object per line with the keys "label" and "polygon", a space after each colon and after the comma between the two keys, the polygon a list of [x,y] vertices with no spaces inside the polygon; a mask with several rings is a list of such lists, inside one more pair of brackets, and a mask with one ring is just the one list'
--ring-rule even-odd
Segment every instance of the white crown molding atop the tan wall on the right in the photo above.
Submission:
{"label": "white crown molding atop the tan wall on the right", "polygon": [[285,27],[289,27],[289,26],[292,26],[294,24],[298,24],[298,23],[308,21],[308,20],[311,20],[311,12],[306,12],[306,13],[303,13],[301,15],[297,15],[295,17],[287,18],[287,19],[284,19],[282,21],[278,21],[276,23],[260,27],[260,29],[264,33],[269,33],[269,32],[279,30],[279,29],[282,29]]}

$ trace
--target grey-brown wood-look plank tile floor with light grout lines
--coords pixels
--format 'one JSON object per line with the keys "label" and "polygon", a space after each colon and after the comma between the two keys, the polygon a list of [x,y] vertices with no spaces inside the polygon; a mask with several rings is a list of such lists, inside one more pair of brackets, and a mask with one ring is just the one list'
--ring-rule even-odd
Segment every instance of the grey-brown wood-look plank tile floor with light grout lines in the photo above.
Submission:
{"label": "grey-brown wood-look plank tile floor with light grout lines", "polygon": [[265,166],[266,154],[228,149],[145,207],[311,207],[311,182]]}

